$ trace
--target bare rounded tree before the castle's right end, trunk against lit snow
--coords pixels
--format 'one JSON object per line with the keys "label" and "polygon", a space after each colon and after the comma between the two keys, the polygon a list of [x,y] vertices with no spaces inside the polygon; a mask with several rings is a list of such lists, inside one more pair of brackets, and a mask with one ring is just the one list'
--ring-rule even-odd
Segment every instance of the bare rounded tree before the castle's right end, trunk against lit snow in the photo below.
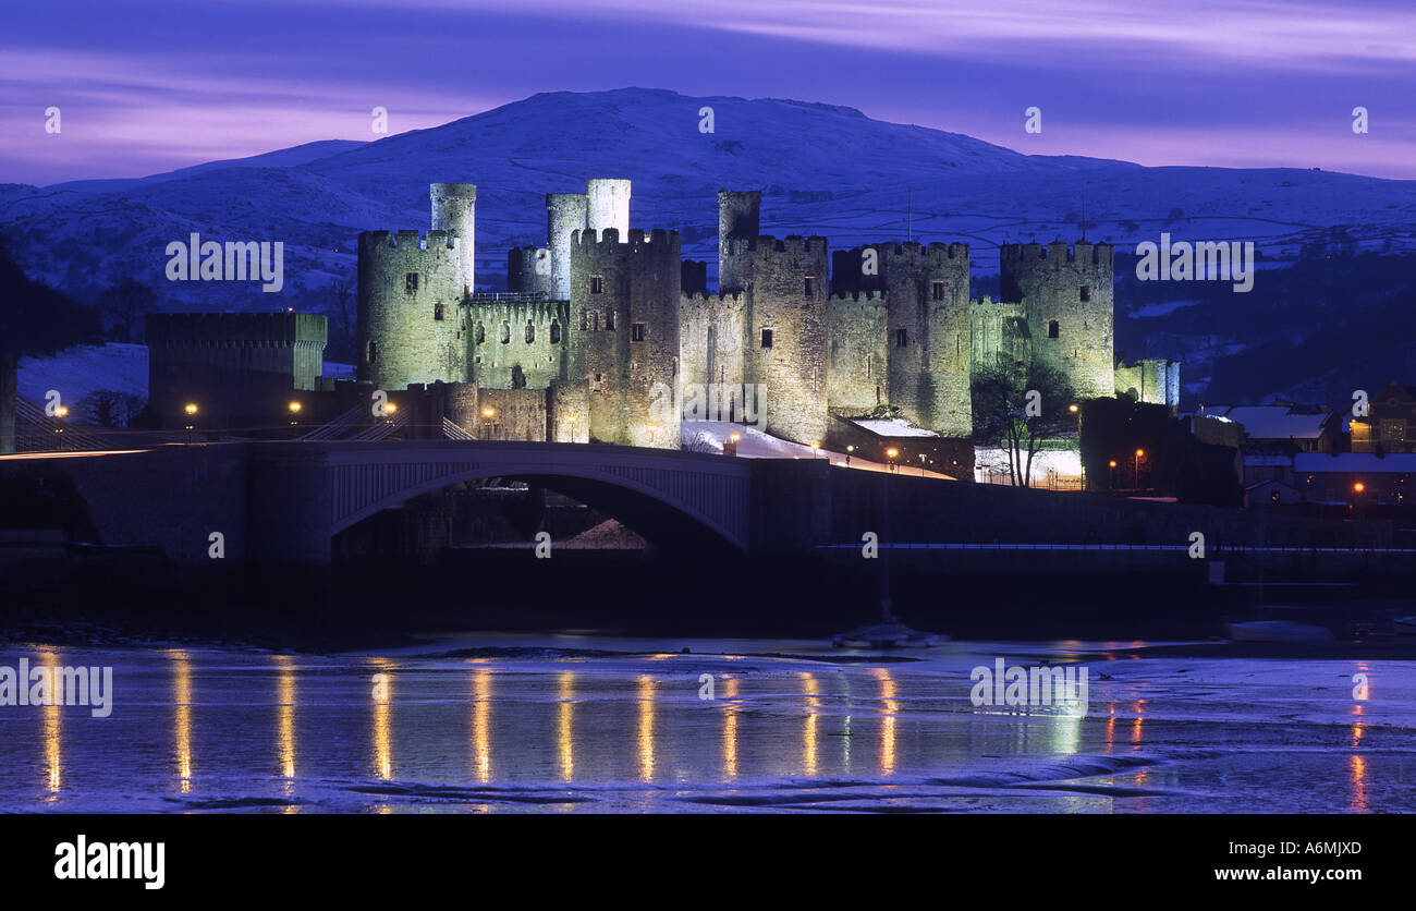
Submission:
{"label": "bare rounded tree before the castle's right end, trunk against lit snow", "polygon": [[1008,475],[1015,487],[1032,483],[1032,456],[1044,439],[1076,429],[1076,404],[1066,377],[1055,367],[1000,363],[973,377],[974,439],[1008,455]]}

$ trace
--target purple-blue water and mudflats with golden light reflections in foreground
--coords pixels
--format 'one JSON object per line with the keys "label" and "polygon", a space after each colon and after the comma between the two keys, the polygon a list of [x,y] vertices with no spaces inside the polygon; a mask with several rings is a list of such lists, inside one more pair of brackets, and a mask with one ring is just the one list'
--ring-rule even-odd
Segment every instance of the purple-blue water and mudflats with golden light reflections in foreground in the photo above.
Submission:
{"label": "purple-blue water and mudflats with golden light reflections in foreground", "polygon": [[[11,646],[0,666],[110,666],[113,707],[0,706],[0,809],[1416,810],[1416,662],[1136,645],[854,663],[820,642],[590,636],[338,657]],[[976,707],[970,672],[998,657],[1087,667],[1085,714]]]}

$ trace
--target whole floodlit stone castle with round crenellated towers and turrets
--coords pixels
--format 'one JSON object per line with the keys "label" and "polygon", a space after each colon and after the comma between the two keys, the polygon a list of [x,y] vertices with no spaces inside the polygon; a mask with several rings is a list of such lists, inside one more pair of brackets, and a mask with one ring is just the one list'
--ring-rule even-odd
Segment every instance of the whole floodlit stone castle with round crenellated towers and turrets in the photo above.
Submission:
{"label": "whole floodlit stone castle with round crenellated towers and turrets", "polygon": [[719,190],[712,293],[677,232],[629,227],[630,181],[588,180],[547,196],[547,245],[511,249],[511,290],[486,295],[476,194],[432,184],[425,237],[358,238],[358,378],[450,384],[449,417],[473,436],[677,448],[685,390],[709,387],[733,414],[759,391],[765,429],[800,443],[882,407],[967,441],[974,373],[1029,357],[1079,398],[1178,405],[1178,364],[1113,361],[1109,244],[1005,244],[1001,300],[974,300],[964,244],[833,254],[760,235],[762,194]]}

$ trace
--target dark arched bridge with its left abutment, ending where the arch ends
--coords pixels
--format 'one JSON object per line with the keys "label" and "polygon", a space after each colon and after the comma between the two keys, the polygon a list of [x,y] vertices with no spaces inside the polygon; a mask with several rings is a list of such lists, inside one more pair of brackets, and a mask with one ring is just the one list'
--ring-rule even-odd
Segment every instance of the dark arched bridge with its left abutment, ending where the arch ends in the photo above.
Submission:
{"label": "dark arched bridge with its left abutment, ending where the arch ends", "polygon": [[651,541],[749,550],[746,459],[668,449],[500,441],[229,442],[33,453],[0,470],[55,469],[85,499],[105,544],[210,560],[329,562],[331,538],[381,510],[464,480],[542,485]]}

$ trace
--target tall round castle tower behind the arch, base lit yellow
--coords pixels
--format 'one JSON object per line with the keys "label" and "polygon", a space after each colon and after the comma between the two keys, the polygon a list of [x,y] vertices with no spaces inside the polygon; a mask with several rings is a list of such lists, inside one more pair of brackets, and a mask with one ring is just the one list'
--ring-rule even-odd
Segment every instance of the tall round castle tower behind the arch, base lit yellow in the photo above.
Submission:
{"label": "tall round castle tower behind the arch, base lit yellow", "polygon": [[680,445],[680,261],[677,231],[571,237],[569,378],[589,381],[596,441]]}

